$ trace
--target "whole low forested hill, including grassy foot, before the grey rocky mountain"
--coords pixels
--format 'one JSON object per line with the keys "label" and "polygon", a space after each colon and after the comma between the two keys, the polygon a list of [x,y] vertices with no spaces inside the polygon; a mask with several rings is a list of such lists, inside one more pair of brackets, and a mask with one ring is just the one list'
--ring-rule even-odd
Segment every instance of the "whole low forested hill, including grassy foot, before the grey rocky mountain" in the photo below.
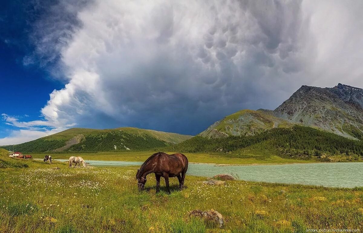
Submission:
{"label": "whole low forested hill, including grassy foot, before the grey rocky mountain", "polygon": [[180,152],[224,152],[225,154],[274,154],[287,158],[334,161],[361,160],[363,142],[311,127],[272,128],[255,135],[206,138],[195,136],[168,148]]}

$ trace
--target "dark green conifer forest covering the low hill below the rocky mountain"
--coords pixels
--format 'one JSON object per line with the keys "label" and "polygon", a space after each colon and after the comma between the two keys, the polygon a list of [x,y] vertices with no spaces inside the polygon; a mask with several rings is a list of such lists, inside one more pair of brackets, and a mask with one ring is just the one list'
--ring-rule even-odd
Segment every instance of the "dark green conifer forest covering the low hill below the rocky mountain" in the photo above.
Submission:
{"label": "dark green conifer forest covering the low hill below the rocky mountain", "polygon": [[172,151],[180,152],[232,152],[241,148],[264,143],[269,148],[279,148],[285,152],[297,150],[304,154],[319,155],[346,153],[363,156],[363,142],[310,127],[273,128],[253,136],[228,136],[208,139],[195,136],[177,145],[170,146]]}

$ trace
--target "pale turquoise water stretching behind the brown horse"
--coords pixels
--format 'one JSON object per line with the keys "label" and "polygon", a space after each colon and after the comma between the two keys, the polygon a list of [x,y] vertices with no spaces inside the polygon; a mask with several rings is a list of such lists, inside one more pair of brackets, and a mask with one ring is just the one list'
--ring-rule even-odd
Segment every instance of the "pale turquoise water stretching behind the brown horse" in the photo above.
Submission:
{"label": "pale turquoise water stretching behind the brown horse", "polygon": [[[65,162],[66,159],[57,159]],[[141,165],[142,162],[87,160],[98,167]],[[326,187],[363,187],[363,163],[301,163],[284,165],[215,166],[189,164],[188,175],[211,177],[227,173],[241,180],[288,184],[322,185]]]}

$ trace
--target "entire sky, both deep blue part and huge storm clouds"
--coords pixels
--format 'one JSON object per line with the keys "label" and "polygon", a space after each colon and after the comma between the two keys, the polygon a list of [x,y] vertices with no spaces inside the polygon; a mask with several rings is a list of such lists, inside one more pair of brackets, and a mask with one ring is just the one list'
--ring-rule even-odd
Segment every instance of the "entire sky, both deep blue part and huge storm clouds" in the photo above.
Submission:
{"label": "entire sky, both deep blue part and huge storm clouds", "polygon": [[359,1],[2,1],[0,145],[70,127],[195,135],[301,85],[363,87]]}

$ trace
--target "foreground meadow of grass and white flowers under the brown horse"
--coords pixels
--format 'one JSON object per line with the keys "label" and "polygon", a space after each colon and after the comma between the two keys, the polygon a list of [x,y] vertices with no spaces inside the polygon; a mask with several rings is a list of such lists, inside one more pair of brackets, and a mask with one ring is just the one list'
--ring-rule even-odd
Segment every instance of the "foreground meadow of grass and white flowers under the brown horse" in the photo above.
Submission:
{"label": "foreground meadow of grass and white flowers under the brown horse", "polygon": [[[362,229],[361,188],[228,181],[203,185],[187,176],[187,188],[155,194],[155,178],[138,192],[136,167],[0,169],[0,232],[306,232]],[[65,188],[66,187],[66,188]],[[81,201],[80,201],[81,200]],[[193,209],[215,209],[227,223],[189,218]]]}

